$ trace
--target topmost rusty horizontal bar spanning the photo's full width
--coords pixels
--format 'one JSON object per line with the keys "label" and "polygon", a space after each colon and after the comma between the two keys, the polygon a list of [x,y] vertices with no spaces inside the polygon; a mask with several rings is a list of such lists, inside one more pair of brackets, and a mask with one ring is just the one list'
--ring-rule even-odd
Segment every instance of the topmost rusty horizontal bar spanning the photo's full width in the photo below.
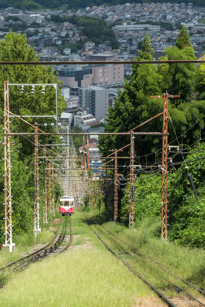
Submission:
{"label": "topmost rusty horizontal bar spanning the photo's full width", "polygon": [[68,62],[68,61],[57,61],[57,62],[0,62],[0,65],[124,65],[124,64],[182,64],[182,63],[205,63],[204,60],[162,60],[162,61],[77,61],[77,62]]}

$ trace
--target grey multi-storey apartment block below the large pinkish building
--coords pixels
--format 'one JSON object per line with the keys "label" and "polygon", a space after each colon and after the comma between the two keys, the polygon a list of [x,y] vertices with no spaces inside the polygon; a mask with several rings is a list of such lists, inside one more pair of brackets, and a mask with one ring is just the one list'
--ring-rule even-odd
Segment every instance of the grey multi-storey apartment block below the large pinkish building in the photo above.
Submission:
{"label": "grey multi-storey apartment block below the large pinkish building", "polygon": [[81,87],[78,89],[79,105],[83,108],[89,108],[97,120],[103,118],[108,113],[109,90],[100,86]]}

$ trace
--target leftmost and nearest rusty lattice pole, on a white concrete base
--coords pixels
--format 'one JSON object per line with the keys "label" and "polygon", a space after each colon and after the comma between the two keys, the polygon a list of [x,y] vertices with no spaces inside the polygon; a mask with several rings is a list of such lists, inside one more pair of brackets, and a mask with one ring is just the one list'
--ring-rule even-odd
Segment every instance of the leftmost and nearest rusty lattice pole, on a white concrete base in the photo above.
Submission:
{"label": "leftmost and nearest rusty lattice pole, on a white concrete base", "polygon": [[[4,81],[4,131],[9,134],[9,81]],[[15,248],[12,242],[12,208],[11,208],[11,161],[10,161],[10,136],[4,136],[4,196],[5,196],[5,244],[9,251]]]}

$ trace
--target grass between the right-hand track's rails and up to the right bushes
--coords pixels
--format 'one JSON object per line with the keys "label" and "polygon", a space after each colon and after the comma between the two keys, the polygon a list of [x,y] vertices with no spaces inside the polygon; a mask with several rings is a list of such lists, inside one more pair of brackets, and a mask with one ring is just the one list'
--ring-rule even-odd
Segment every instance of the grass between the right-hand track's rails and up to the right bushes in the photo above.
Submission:
{"label": "grass between the right-hand track's rails and up to the right bushes", "polygon": [[[91,214],[86,213],[86,215],[90,216]],[[191,282],[200,289],[205,288],[205,251],[203,249],[190,249],[188,247],[176,246],[173,242],[165,243],[161,241],[160,238],[156,237],[160,227],[159,218],[144,220],[135,230],[127,229],[113,222],[104,223],[100,218],[95,218],[95,220],[140,254],[146,256],[175,275]],[[120,247],[128,250],[122,243],[108,235],[107,232],[103,231],[99,226],[92,225],[91,227],[100,235],[105,243],[117,253],[122,252]],[[143,257],[138,255],[136,255],[136,258],[128,255],[121,255],[121,257],[126,259],[126,262],[128,262],[137,273],[147,279],[156,288],[160,291],[165,291],[164,293],[166,293],[168,297],[175,297],[176,293],[173,286],[166,282],[163,277],[181,286],[183,289],[186,289],[190,294],[197,297],[199,296],[192,287],[168,275]]]}

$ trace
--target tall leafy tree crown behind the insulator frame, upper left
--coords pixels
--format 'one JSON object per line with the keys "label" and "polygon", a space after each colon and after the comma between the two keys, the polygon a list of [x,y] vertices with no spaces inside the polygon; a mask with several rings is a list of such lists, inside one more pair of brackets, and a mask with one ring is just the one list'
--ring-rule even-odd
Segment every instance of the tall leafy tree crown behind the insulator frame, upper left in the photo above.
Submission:
{"label": "tall leafy tree crown behind the insulator frame, upper left", "polygon": [[[34,48],[31,48],[26,41],[26,35],[14,34],[10,31],[5,36],[5,39],[0,42],[0,60],[1,61],[38,61]],[[3,115],[4,109],[4,81],[8,80],[12,84],[53,84],[57,80],[57,75],[54,75],[52,66],[45,65],[2,65],[0,67],[0,114]],[[65,99],[61,97],[62,82],[57,81],[58,87],[58,114],[59,116],[64,111],[66,104]],[[56,89],[53,86],[45,87],[45,94],[41,94],[42,86],[35,87],[34,94],[31,94],[31,85],[24,87],[24,93],[21,94],[20,86],[10,87],[10,111],[16,115],[55,115],[56,114]],[[27,118],[28,122],[34,124],[36,119]],[[38,123],[51,123],[52,118],[39,118]],[[18,131],[33,132],[33,128],[24,124],[16,118],[11,119],[12,125]],[[47,127],[47,132],[52,132],[52,127]],[[30,138],[32,140],[32,138]],[[25,150],[27,155],[32,152],[32,147],[26,146],[26,139],[19,137],[22,142],[22,150]],[[48,144],[49,138],[40,138],[39,142]],[[17,142],[17,141],[16,141]]]}

